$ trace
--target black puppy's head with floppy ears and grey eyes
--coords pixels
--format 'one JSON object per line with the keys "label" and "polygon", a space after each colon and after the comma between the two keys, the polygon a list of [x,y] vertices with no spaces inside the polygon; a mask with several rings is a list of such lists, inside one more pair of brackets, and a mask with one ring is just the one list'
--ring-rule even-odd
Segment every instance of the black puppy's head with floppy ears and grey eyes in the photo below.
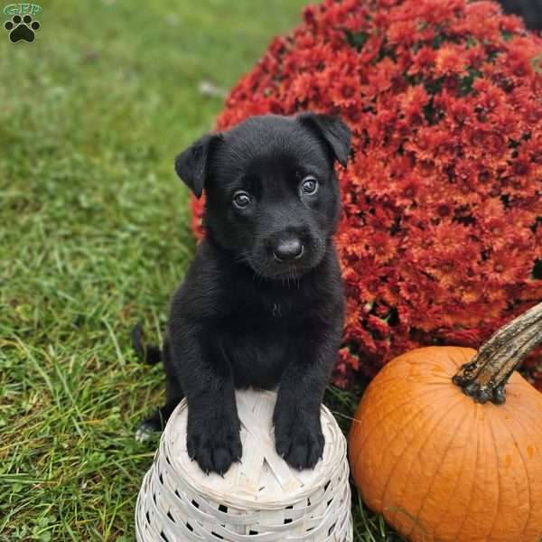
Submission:
{"label": "black puppy's head with floppy ears and grey eyes", "polygon": [[350,131],[334,117],[251,117],[205,135],[179,155],[177,173],[206,192],[204,226],[258,276],[301,276],[325,254],[339,212],[335,160]]}

